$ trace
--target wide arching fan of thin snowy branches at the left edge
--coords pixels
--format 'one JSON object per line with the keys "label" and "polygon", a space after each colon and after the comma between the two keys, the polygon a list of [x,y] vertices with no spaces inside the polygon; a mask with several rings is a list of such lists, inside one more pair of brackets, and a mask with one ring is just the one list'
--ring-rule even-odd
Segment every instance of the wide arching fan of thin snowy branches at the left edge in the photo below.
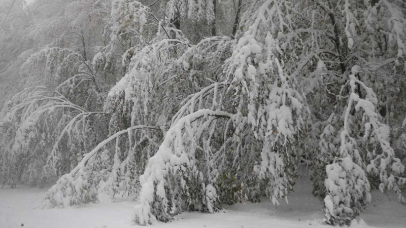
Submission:
{"label": "wide arching fan of thin snowy branches at the left edge", "polygon": [[0,141],[4,147],[1,159],[6,164],[1,172],[6,182],[11,186],[44,184],[41,173],[49,155],[46,148],[51,148],[66,119],[78,112],[86,110],[44,87],[27,88],[16,94],[1,119],[1,126],[7,126],[7,137]]}

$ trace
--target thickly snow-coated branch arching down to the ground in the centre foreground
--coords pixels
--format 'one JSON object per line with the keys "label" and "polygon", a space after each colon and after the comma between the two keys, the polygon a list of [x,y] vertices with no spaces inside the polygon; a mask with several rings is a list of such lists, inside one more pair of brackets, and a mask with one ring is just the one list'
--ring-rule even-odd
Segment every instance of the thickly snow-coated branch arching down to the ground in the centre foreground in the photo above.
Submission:
{"label": "thickly snow-coated branch arching down to the ground in the centre foreground", "polygon": [[[188,199],[197,199],[201,206],[196,209],[200,211],[213,213],[217,209],[214,182],[197,169],[195,150],[202,130],[218,118],[229,119],[232,115],[200,109],[181,118],[166,132],[140,177],[142,188],[140,205],[134,209],[135,222],[146,225],[157,219],[170,220],[184,209],[196,206],[189,205]],[[199,119],[203,121],[196,124]]]}

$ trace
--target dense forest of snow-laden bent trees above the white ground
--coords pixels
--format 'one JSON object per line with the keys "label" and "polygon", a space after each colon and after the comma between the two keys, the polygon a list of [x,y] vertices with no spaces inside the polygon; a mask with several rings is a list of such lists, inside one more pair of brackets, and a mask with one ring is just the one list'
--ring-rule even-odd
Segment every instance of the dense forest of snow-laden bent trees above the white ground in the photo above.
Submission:
{"label": "dense forest of snow-laden bent trees above the white ground", "polygon": [[404,0],[0,0],[0,186],[44,208],[278,206],[308,167],[350,225],[405,166]]}

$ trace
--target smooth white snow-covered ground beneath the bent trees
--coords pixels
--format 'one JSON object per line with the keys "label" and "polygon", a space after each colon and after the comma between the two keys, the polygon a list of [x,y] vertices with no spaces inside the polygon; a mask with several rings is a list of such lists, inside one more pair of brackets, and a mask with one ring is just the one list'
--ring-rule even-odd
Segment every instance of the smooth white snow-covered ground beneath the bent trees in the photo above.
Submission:
{"label": "smooth white snow-covered ground beneath the bent trees", "polygon": [[[41,209],[47,189],[18,186],[0,189],[0,228],[124,228],[134,227],[130,222],[136,202],[112,203],[101,199],[98,204],[80,208]],[[352,227],[406,227],[406,207],[397,203],[395,195],[372,193],[373,200],[360,216],[362,220]],[[257,204],[224,206],[219,213],[182,213],[170,223],[156,223],[150,227],[330,227],[321,224],[321,201],[311,194],[310,180],[301,177],[295,192],[274,208],[269,200]]]}

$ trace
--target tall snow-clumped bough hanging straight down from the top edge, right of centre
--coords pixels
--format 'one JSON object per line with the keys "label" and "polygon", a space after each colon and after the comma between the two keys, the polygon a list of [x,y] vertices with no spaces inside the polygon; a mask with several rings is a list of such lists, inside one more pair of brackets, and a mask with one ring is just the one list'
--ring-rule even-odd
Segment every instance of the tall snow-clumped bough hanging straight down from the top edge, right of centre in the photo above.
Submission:
{"label": "tall snow-clumped bough hanging straight down from the top edge, right of centre", "polygon": [[[248,112],[248,123],[262,144],[254,171],[266,182],[265,193],[274,205],[279,199],[287,200],[292,190],[296,168],[288,164],[296,164],[300,157],[301,150],[294,142],[306,132],[309,121],[306,100],[295,89],[296,77],[309,61],[305,59],[295,72],[297,63],[284,50],[286,45],[281,45],[282,39],[290,42],[300,34],[293,32],[292,21],[283,16],[293,11],[292,7],[278,0],[253,2],[242,19],[247,29],[225,65],[231,82],[228,90],[235,90],[235,98],[248,103],[241,105],[244,109],[238,113]],[[285,33],[289,35],[284,37]]]}

